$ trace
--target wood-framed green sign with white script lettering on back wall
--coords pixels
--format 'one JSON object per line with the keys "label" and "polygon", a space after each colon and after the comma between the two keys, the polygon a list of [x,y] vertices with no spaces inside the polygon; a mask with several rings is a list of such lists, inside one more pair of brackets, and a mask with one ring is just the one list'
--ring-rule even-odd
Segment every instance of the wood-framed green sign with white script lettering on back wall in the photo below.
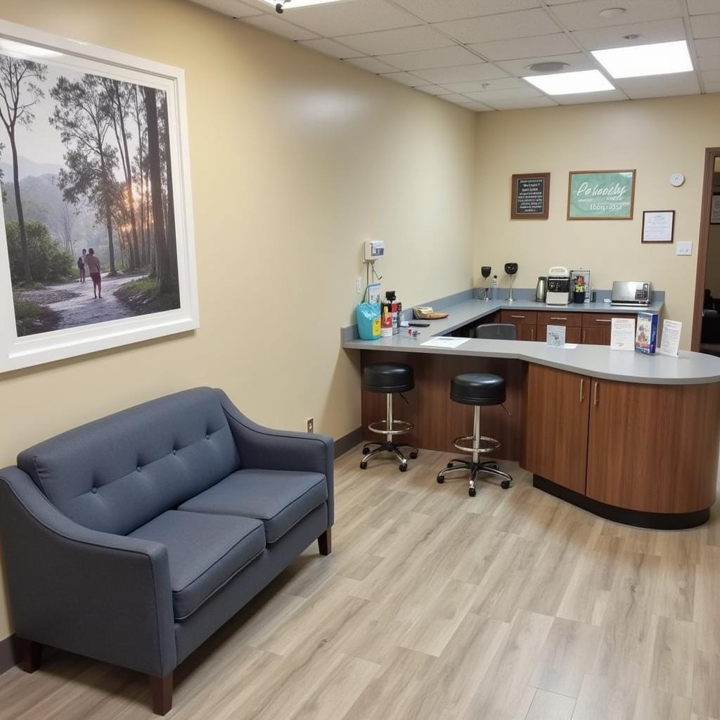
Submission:
{"label": "wood-framed green sign with white script lettering on back wall", "polygon": [[571,172],[567,183],[568,220],[632,220],[634,170]]}

